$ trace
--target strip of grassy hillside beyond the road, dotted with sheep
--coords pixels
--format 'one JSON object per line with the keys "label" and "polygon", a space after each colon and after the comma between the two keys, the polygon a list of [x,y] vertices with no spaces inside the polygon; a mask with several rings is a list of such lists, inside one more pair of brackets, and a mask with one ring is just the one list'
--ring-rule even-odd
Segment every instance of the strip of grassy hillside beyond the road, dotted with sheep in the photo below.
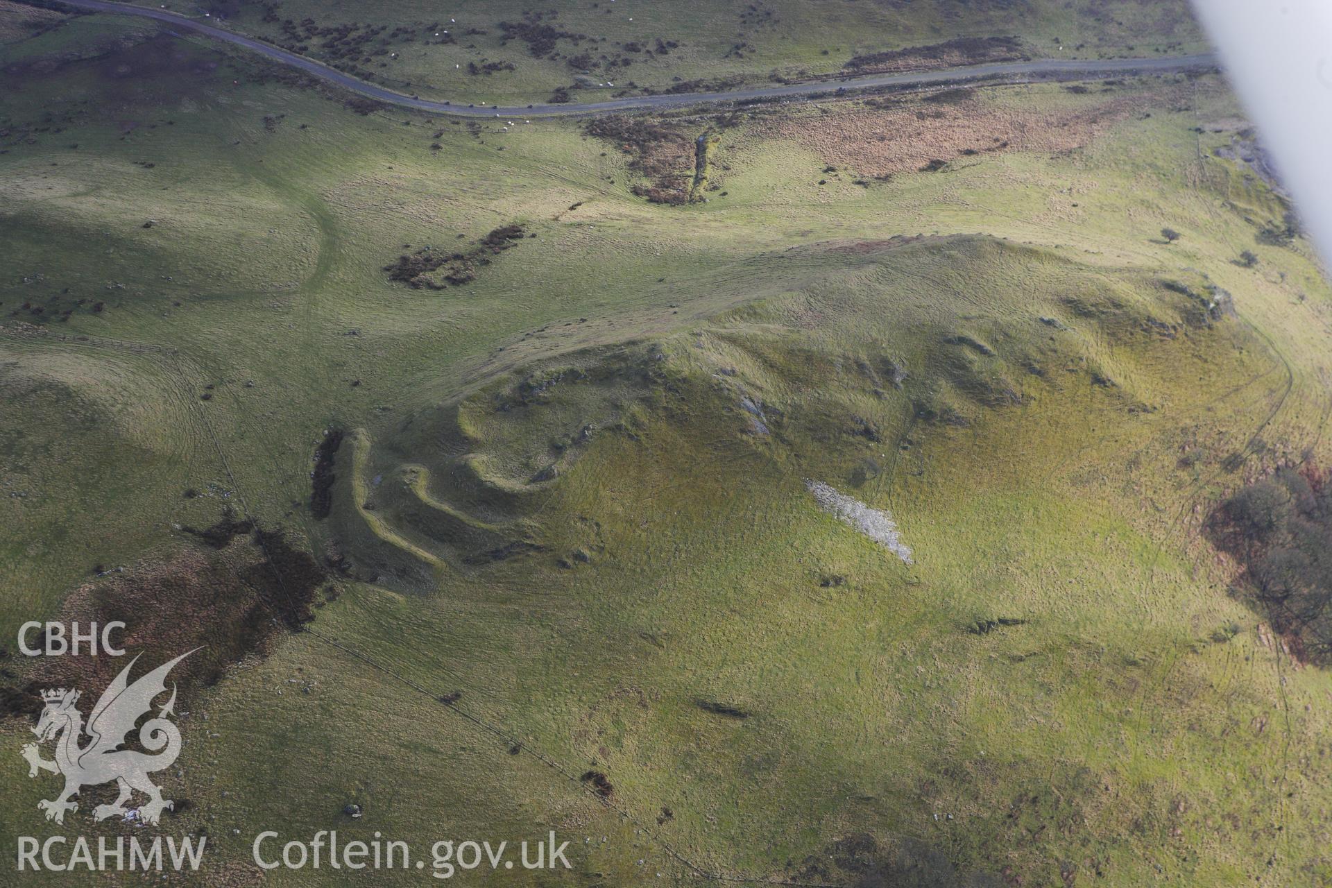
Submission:
{"label": "strip of grassy hillside beyond the road, dotted with sheep", "polygon": [[[373,8],[345,0],[186,0],[172,8],[206,12],[384,85],[502,104],[545,101],[561,88],[571,101],[597,101],[998,55],[1098,59],[1204,45],[1183,0],[578,0],[550,7],[394,0]],[[986,44],[992,37],[1015,40],[996,48]]]}

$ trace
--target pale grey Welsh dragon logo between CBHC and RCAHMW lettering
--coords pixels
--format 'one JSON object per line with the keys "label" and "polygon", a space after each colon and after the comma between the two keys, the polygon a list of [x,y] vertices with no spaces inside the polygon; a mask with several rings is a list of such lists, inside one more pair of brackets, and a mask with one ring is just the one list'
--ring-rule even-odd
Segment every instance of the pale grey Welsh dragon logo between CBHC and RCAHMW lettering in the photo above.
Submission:
{"label": "pale grey Welsh dragon logo between CBHC and RCAHMW lettering", "polygon": [[[28,760],[29,777],[36,777],[39,771],[51,771],[65,779],[65,788],[57,797],[37,803],[37,808],[47,812],[47,820],[64,823],[67,811],[79,809],[79,805],[69,800],[72,796],[79,795],[83,787],[112,780],[116,781],[120,796],[115,804],[100,804],[93,808],[95,820],[129,813],[131,809],[125,803],[136,789],[148,796],[148,801],[137,811],[137,817],[147,824],[157,825],[163,809],[174,807],[169,799],[163,799],[161,787],[148,779],[149,774],[169,768],[180,755],[180,730],[169,719],[174,715],[174,686],[170,699],[159,710],[157,716],[148,719],[139,728],[139,743],[148,752],[120,747],[125,744],[127,735],[135,730],[139,719],[152,710],[153,699],[166,691],[166,674],[193,652],[181,654],[131,684],[129,670],[139,662],[136,656],[103,692],[92,715],[88,716],[87,727],[83,714],[75,707],[79,691],[60,688],[41,692],[47,707],[41,711],[37,727],[32,730],[37,735],[37,743],[25,744],[23,758]],[[87,744],[79,746],[84,734],[91,739]],[[39,743],[48,740],[56,740],[55,762],[41,758]]]}

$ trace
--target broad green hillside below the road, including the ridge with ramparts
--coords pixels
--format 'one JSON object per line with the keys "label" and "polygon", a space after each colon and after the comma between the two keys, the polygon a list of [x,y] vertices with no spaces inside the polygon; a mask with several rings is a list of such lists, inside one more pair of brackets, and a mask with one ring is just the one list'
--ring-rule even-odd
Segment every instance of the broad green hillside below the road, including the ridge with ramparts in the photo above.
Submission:
{"label": "broad green hillside below the road, including the ridge with ramparts", "polygon": [[[168,785],[197,884],[334,827],[555,829],[558,884],[1332,877],[1327,674],[1201,533],[1329,458],[1329,290],[1219,80],[598,136],[107,17],[0,52],[0,631],[177,590],[144,644],[226,651]],[[705,133],[706,201],[647,200]],[[49,676],[4,666],[17,750]]]}

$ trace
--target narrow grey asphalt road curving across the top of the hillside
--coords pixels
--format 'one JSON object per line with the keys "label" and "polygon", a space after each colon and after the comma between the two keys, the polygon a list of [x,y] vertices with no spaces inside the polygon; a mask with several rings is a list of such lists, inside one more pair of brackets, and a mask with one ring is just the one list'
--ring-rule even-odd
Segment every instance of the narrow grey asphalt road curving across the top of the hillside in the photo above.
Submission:
{"label": "narrow grey asphalt road curving across the top of the hillside", "polygon": [[947,71],[928,71],[904,75],[867,75],[863,77],[846,77],[842,80],[819,80],[799,84],[783,84],[775,87],[754,87],[751,89],[734,89],[730,92],[713,93],[679,93],[673,96],[634,96],[629,99],[611,99],[610,101],[594,101],[567,105],[482,105],[453,101],[432,101],[417,99],[404,93],[376,87],[374,84],[358,80],[341,71],[329,68],[325,64],[306,59],[294,52],[288,52],[273,44],[246,37],[225,28],[188,19],[168,9],[152,9],[148,7],[131,7],[123,3],[109,3],[108,0],[61,0],[68,7],[89,9],[95,12],[113,12],[119,15],[140,16],[164,21],[177,32],[201,33],[214,40],[224,40],[238,47],[252,49],[261,56],[292,68],[298,68],[314,75],[321,80],[337,84],[352,92],[378,99],[380,101],[428,111],[436,114],[458,114],[464,117],[494,117],[498,114],[542,114],[542,116],[582,116],[603,114],[621,111],[635,111],[643,108],[679,108],[682,105],[695,105],[701,103],[729,103],[747,100],[770,99],[801,99],[815,95],[827,95],[836,89],[867,89],[874,87],[928,87],[964,83],[978,77],[1036,77],[1036,76],[1064,76],[1064,77],[1096,77],[1115,73],[1164,73],[1172,71],[1187,71],[1191,68],[1215,67],[1216,57],[1211,55],[1200,56],[1156,56],[1151,59],[1043,59],[1035,61],[1008,61],[990,65],[971,65],[967,68],[951,68]]}

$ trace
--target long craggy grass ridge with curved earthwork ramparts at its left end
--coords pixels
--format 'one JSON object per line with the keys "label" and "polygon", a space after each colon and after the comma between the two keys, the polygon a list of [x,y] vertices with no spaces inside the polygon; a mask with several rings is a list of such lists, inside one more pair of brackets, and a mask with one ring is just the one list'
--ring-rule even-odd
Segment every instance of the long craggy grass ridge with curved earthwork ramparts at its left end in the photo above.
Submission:
{"label": "long craggy grass ridge with curved earthwork ramparts at its left end", "polygon": [[[538,517],[603,435],[639,439],[666,422],[702,437],[697,459],[794,461],[806,475],[879,487],[922,438],[984,426],[996,411],[1039,414],[1072,393],[1122,422],[1150,422],[1181,361],[1243,337],[1235,324],[1213,330],[1225,316],[1205,284],[1195,293],[982,236],[821,244],[782,258],[774,272],[807,281],[797,294],[517,369],[413,411],[373,455],[358,431],[342,455],[341,510],[429,563],[545,553],[567,566]],[[944,309],[958,301],[971,310]],[[558,535],[570,517],[545,523]],[[388,579],[373,568],[364,578]]]}

